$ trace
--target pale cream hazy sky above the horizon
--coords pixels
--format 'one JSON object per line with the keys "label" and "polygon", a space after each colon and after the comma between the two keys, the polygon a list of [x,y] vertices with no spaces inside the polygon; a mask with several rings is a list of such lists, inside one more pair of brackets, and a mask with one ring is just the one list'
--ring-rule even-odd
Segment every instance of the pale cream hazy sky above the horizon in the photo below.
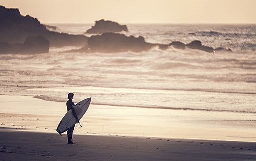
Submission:
{"label": "pale cream hazy sky above the horizon", "polygon": [[41,23],[253,23],[256,0],[0,0]]}

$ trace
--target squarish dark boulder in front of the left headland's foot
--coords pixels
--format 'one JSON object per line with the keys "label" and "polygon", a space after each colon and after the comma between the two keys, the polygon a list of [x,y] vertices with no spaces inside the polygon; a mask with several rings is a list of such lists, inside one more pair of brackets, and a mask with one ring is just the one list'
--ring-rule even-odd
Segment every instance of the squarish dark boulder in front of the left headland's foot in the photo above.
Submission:
{"label": "squarish dark boulder in front of the left headland's foot", "polygon": [[42,36],[30,36],[27,37],[24,42],[24,53],[48,53],[50,42]]}

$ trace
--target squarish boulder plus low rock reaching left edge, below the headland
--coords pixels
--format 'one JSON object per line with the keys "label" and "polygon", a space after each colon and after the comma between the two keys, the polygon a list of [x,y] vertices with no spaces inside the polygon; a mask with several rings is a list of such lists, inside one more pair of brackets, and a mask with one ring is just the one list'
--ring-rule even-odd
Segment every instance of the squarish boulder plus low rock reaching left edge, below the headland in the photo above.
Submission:
{"label": "squarish boulder plus low rock reaching left edge, below the headland", "polygon": [[0,42],[0,54],[38,54],[49,52],[49,40],[42,36],[30,36],[24,44]]}

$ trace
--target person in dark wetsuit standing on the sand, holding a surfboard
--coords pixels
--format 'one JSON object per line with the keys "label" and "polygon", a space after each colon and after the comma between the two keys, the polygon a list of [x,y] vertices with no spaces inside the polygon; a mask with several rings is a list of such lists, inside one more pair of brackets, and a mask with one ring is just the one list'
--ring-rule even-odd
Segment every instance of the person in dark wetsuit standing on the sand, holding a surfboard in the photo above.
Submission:
{"label": "person in dark wetsuit standing on the sand, holding a surfboard", "polygon": [[[70,109],[72,110],[73,115],[75,116],[75,118],[77,119],[77,122],[79,122],[79,119],[77,117],[77,114],[75,112],[75,104],[73,102],[74,99],[74,93],[69,93],[68,97],[69,100],[67,101],[67,111],[69,111]],[[71,127],[68,131],[67,131],[67,139],[68,139],[68,143],[67,144],[76,144],[74,142],[72,142],[72,135],[73,135],[73,131],[74,131],[75,125],[73,127]]]}

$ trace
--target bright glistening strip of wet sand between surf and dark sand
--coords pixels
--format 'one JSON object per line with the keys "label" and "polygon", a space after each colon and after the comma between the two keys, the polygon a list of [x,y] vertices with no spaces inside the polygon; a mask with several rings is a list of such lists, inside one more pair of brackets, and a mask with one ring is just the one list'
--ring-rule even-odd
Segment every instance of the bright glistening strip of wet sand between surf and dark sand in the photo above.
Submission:
{"label": "bright glistening strip of wet sand between surf and dark sand", "polygon": [[[0,100],[0,130],[55,134],[66,113],[61,102],[6,95],[0,95]],[[221,120],[223,117],[227,120]],[[233,122],[229,117],[241,121]],[[81,119],[83,127],[77,127],[74,134],[256,142],[254,122],[244,124],[245,119],[239,113],[90,105]]]}

